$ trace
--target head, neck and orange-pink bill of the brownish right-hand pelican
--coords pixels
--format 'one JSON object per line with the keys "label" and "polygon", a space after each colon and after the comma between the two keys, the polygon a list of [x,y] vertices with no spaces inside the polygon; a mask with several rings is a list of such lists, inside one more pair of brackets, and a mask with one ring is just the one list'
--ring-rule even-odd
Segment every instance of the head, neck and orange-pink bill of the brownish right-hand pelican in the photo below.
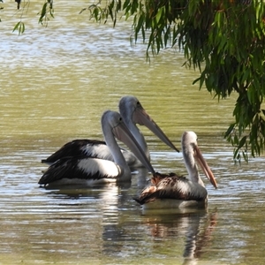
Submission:
{"label": "head, neck and orange-pink bill of the brownish right-hand pelican", "polygon": [[203,186],[203,183],[201,181],[201,178],[197,170],[197,166],[194,163],[195,159],[195,161],[199,163],[199,165],[201,166],[201,170],[203,170],[204,174],[206,175],[210,183],[215,188],[217,188],[216,178],[214,177],[212,170],[210,170],[208,163],[201,155],[201,150],[198,147],[197,143],[196,133],[194,132],[183,133],[181,141],[182,141],[183,157],[186,162],[186,168],[189,172],[189,177],[194,178],[194,180],[198,181],[199,183],[201,182],[201,185]]}

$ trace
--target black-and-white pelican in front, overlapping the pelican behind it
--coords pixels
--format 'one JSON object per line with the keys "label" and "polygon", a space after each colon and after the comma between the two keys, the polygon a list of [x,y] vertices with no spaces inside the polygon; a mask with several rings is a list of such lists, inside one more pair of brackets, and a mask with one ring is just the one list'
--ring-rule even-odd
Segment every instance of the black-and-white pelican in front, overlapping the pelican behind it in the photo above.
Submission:
{"label": "black-and-white pelican in front, overlapping the pelican behind it", "polygon": [[39,180],[39,184],[44,186],[48,184],[85,184],[91,186],[109,182],[130,181],[131,170],[117,146],[115,137],[123,141],[128,148],[131,148],[133,154],[140,159],[141,163],[153,174],[155,173],[147,156],[126,127],[119,113],[110,110],[105,111],[101,123],[102,133],[115,162],[87,157],[86,155],[64,157],[49,166],[49,169]]}

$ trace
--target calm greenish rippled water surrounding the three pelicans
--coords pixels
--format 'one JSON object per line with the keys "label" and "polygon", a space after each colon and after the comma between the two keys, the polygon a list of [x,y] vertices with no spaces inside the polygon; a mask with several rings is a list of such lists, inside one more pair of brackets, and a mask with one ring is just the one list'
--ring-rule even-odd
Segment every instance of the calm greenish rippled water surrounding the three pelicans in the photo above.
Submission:
{"label": "calm greenish rippled water surrounding the three pelicans", "polygon": [[[222,133],[235,99],[199,92],[177,50],[148,64],[145,46],[130,46],[130,23],[98,26],[78,15],[82,1],[58,1],[44,28],[41,6],[31,2],[22,36],[11,34],[15,3],[1,13],[0,264],[263,264],[265,159],[234,165]],[[41,159],[65,142],[102,139],[102,112],[122,95],[136,95],[177,147],[185,130],[198,134],[219,187],[203,178],[207,211],[142,212],[133,196],[145,170],[128,186],[37,185]],[[181,153],[142,131],[155,170],[186,174]]]}

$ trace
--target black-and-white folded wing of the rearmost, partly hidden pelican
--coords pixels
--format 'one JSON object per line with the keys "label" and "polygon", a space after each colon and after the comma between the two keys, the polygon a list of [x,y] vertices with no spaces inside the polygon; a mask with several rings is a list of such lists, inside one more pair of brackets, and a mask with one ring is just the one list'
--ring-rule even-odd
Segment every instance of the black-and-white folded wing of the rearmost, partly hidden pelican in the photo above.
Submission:
{"label": "black-and-white folded wing of the rearmost, partly hidden pelican", "polygon": [[79,139],[66,143],[54,154],[50,155],[46,159],[43,159],[42,163],[55,163],[57,160],[64,157],[79,155],[87,155],[89,157],[92,156],[113,161],[110,148],[107,147],[104,141]]}

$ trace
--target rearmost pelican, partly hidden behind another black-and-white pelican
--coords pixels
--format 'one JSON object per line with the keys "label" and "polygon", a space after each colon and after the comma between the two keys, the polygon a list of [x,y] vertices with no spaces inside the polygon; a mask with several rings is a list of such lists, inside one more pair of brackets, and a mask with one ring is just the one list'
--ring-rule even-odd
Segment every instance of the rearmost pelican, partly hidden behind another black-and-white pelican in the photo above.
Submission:
{"label": "rearmost pelican, partly hidden behind another black-and-white pelican", "polygon": [[[136,126],[146,125],[150,131],[155,133],[165,144],[170,148],[178,151],[169,138],[163,133],[162,129],[156,125],[155,121],[149,117],[148,113],[141,106],[138,99],[133,95],[127,95],[120,99],[119,102],[119,112],[121,117],[123,117],[125,125],[129,128],[134,138],[140,144],[140,147],[144,150],[144,153],[148,156],[150,160],[150,154],[148,150],[148,145],[144,139],[142,133]],[[121,149],[123,155],[125,156],[125,161],[128,163],[131,169],[137,167],[143,167],[144,165],[139,159],[133,155],[132,152]],[[178,151],[179,152],[179,151]],[[54,154],[50,155],[47,159],[42,160],[42,163],[55,163],[58,159],[67,156],[78,156],[87,155],[102,158],[104,160],[114,161],[111,155],[110,148],[102,140],[72,140],[66,143],[62,148],[57,150]]]}

